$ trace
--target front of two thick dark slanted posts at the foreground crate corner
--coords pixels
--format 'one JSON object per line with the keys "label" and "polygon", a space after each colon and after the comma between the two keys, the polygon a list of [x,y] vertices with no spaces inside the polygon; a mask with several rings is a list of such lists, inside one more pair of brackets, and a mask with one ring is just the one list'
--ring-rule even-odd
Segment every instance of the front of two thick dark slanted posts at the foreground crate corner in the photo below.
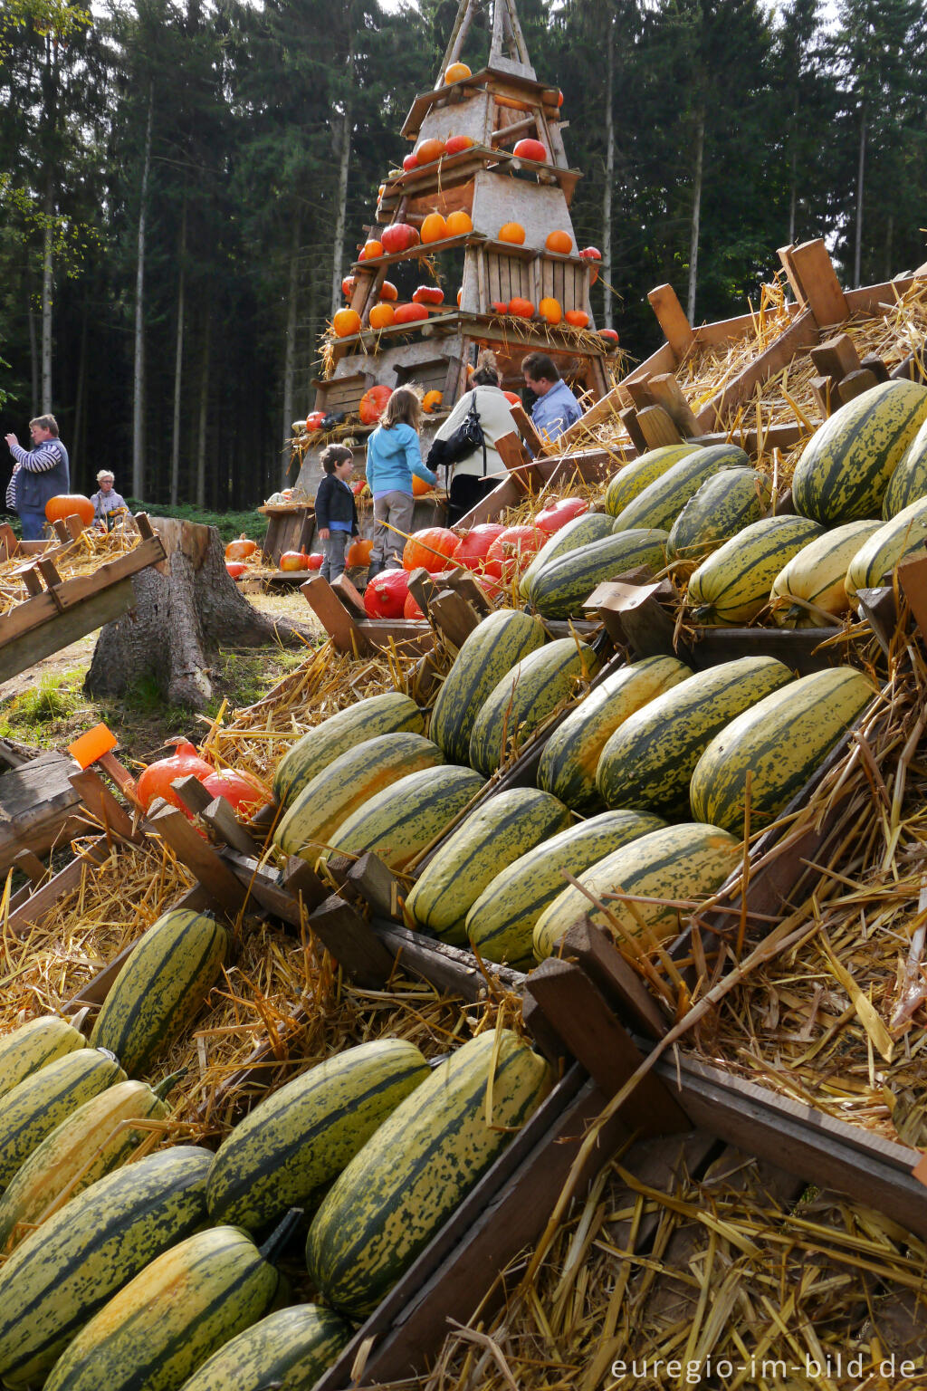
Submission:
{"label": "front of two thick dark slanted posts at the foreground crate corner", "polygon": [[[643,1059],[589,976],[570,961],[542,961],[525,982],[530,995],[573,1057],[606,1096],[614,1096]],[[621,1107],[630,1129],[659,1135],[689,1128],[689,1120],[653,1074],[643,1078]]]}

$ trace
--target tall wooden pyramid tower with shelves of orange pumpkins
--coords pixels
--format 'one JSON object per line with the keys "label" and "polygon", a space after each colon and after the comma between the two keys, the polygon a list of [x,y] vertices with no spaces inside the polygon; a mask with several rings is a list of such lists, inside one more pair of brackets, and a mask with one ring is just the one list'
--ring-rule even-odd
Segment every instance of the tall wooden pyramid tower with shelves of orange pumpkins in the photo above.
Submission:
{"label": "tall wooden pyramid tower with shelves of orange pumpkins", "polygon": [[[345,282],[349,306],[325,345],[315,410],[343,413],[338,431],[354,441],[372,428],[357,415],[374,385],[420,384],[438,426],[484,346],[510,389],[523,388],[532,349],[591,399],[610,387],[614,344],[595,332],[589,306],[596,259],[578,252],[570,221],[582,175],[567,163],[561,93],[538,81],[514,0],[492,0],[486,65],[471,72],[460,61],[481,8],[460,0],[435,86],[413,102],[402,128],[413,153],[379,188]],[[310,453],[300,491],[313,492],[317,477]]]}

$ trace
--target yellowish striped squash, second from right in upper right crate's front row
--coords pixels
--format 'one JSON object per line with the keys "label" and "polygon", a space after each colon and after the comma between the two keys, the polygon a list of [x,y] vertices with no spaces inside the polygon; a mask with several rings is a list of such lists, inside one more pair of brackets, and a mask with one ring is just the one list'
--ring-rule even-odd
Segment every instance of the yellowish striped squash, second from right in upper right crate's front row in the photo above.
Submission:
{"label": "yellowish striped squash, second from right in upper right crate's front row", "polygon": [[780,627],[827,627],[849,608],[846,568],[881,522],[848,522],[816,537],[773,580]]}

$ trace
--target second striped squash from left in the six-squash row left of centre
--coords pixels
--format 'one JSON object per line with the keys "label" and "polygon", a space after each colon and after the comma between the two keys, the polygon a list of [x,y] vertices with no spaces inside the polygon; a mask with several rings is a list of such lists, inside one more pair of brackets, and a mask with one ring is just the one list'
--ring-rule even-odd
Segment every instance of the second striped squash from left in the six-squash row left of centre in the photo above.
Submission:
{"label": "second striped squash from left in the six-squash row left of centre", "polygon": [[418,772],[438,768],[445,755],[423,734],[379,734],[356,744],[306,783],[274,833],[286,855],[314,864],[338,826],[378,791]]}

